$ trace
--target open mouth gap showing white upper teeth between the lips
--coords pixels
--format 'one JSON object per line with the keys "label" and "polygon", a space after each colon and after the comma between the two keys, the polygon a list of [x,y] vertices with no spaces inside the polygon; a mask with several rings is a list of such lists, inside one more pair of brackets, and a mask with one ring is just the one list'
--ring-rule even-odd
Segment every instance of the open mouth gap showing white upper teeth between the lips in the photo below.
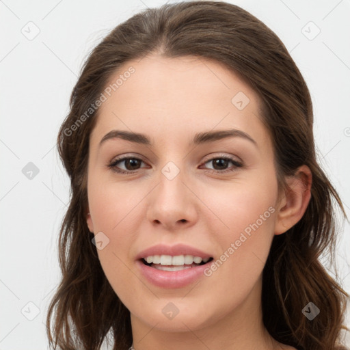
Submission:
{"label": "open mouth gap showing white upper teeth between the lips", "polygon": [[206,265],[213,257],[201,258],[193,255],[150,255],[139,259],[144,265],[161,271],[181,271]]}

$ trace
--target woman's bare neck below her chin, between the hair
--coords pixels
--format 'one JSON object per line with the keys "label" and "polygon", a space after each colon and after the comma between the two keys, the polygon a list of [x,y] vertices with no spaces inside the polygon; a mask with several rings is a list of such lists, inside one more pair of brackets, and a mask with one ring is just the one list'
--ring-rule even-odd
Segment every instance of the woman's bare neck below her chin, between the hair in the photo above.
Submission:
{"label": "woman's bare neck below her chin, between the hair", "polygon": [[[250,295],[224,317],[212,317],[194,329],[173,332],[159,329],[161,323],[149,325],[131,314],[135,350],[272,350],[279,349],[262,323],[261,282]],[[221,310],[221,314],[225,310]],[[183,322],[184,325],[185,322]]]}

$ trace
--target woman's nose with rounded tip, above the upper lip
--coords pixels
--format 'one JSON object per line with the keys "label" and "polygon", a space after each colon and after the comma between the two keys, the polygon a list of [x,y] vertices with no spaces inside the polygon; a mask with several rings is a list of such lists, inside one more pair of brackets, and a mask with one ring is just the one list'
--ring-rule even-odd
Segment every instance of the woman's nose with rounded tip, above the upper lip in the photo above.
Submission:
{"label": "woman's nose with rounded tip, above the upper lip", "polygon": [[170,179],[161,174],[148,196],[147,219],[152,226],[174,231],[189,228],[198,218],[198,197],[180,172]]}

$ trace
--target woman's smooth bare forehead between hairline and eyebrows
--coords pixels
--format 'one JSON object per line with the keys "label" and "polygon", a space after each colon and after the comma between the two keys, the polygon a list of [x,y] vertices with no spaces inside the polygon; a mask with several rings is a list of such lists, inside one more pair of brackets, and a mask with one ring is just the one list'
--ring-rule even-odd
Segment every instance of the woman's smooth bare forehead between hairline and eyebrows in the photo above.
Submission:
{"label": "woman's smooth bare forehead between hairline and eyebrows", "polygon": [[178,142],[189,133],[229,128],[266,138],[256,92],[213,60],[146,56],[126,62],[106,88],[110,96],[100,106],[93,139],[123,129]]}

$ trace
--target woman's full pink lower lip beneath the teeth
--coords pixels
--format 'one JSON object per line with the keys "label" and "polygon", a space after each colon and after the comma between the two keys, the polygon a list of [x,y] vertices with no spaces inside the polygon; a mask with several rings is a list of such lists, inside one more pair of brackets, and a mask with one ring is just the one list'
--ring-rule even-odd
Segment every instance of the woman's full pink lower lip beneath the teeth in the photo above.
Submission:
{"label": "woman's full pink lower lip beneath the teeth", "polygon": [[181,288],[187,286],[204,276],[204,270],[210,264],[199,265],[191,267],[190,269],[183,269],[179,271],[163,271],[149,267],[144,262],[137,260],[137,266],[142,274],[146,277],[148,282],[161,288]]}

